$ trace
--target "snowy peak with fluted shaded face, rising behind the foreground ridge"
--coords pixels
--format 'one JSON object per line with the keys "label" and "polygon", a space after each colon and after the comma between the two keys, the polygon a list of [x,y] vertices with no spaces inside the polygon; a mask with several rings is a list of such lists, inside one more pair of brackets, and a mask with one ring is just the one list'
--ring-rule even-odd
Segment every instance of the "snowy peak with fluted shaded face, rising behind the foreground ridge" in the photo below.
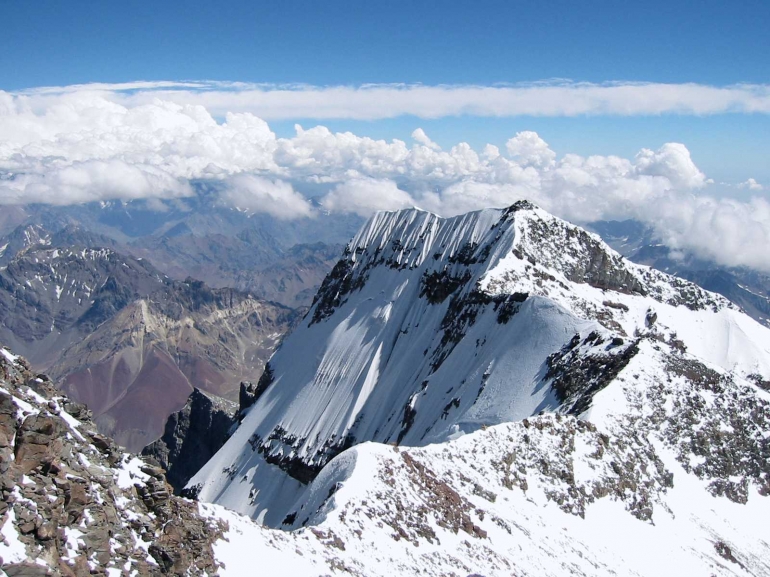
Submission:
{"label": "snowy peak with fluted shaded face, rising behind the foreground ridge", "polygon": [[188,486],[279,526],[334,456],[541,411],[585,414],[653,339],[770,376],[770,332],[530,205],[375,215],[284,342],[240,428]]}

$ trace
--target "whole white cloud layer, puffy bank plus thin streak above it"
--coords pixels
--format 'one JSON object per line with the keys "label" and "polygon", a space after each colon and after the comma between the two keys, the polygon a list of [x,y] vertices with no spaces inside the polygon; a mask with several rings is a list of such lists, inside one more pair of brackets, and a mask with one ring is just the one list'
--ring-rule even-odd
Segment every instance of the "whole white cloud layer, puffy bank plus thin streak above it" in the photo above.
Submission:
{"label": "whole white cloud layer, puffy bank plus thin streak above it", "polygon": [[[253,92],[270,93],[273,98],[273,93],[283,94],[280,90],[217,86],[136,83],[130,89],[87,85],[38,89],[24,95],[0,92],[0,204],[176,198],[193,194],[192,180],[216,181],[223,202],[281,219],[312,216],[311,204],[297,192],[308,184],[324,191],[319,199],[324,209],[362,216],[414,205],[454,215],[527,198],[579,223],[637,218],[654,226],[660,238],[674,248],[724,264],[770,270],[766,250],[770,246],[770,205],[762,198],[738,202],[708,196],[710,181],[682,144],[643,149],[627,159],[558,157],[534,132],[514,135],[504,151],[492,145],[474,150],[465,143],[442,150],[420,128],[412,133],[411,143],[333,133],[323,126],[307,130],[297,126],[294,137],[282,139],[263,119],[243,111],[253,104]],[[546,98],[548,94],[585,92],[588,96],[578,98],[570,110],[589,112],[602,107],[672,111],[684,106],[682,95],[690,99],[687,110],[698,113],[770,110],[763,87],[700,90],[703,87],[677,85],[667,99],[659,101],[669,103],[661,107],[654,104],[654,98],[639,96],[639,90],[644,95],[651,86],[462,90],[479,94],[536,90],[543,99],[539,105],[544,106],[556,102]],[[283,105],[305,106],[297,102],[308,94],[328,96],[330,90],[284,91],[284,96],[294,95],[295,99]],[[382,91],[415,98],[422,90],[433,91],[437,98],[434,110],[446,111],[456,110],[453,99],[460,89],[336,90],[343,95],[346,90],[359,91],[366,98]],[[613,96],[618,94],[629,99],[623,106]],[[192,101],[192,96],[227,99],[207,107]],[[509,96],[501,97],[499,110],[510,109]],[[399,102],[407,106],[407,100],[386,104],[401,110]],[[603,104],[596,108],[596,102]],[[230,104],[235,111],[224,111],[223,120],[218,121],[215,116],[219,115],[212,110]],[[344,98],[337,105],[361,110]],[[409,106],[421,106],[419,98]],[[484,113],[493,109],[478,105],[469,110]],[[754,179],[740,186],[755,194],[763,188]]]}

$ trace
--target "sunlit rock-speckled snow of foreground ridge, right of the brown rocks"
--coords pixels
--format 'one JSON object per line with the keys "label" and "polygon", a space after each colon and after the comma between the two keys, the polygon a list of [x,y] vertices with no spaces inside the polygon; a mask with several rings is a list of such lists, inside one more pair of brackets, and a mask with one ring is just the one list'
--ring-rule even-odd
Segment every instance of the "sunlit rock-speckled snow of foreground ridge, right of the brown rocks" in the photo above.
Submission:
{"label": "sunlit rock-speckled snow of foreground ridge, right of the brown rocks", "polygon": [[[564,354],[599,354],[589,337]],[[343,452],[287,514],[291,531],[202,504],[228,523],[222,574],[255,557],[298,576],[770,574],[770,394],[655,334],[636,348],[591,421],[545,414]]]}

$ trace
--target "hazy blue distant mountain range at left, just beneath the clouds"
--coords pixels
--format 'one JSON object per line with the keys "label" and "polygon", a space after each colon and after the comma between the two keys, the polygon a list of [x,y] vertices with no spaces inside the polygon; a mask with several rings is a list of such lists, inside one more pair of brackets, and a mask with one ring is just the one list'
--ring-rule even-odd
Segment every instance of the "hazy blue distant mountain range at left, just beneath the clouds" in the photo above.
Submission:
{"label": "hazy blue distant mountain range at left, just beneath the clouds", "polygon": [[313,294],[361,223],[317,210],[281,221],[227,207],[200,190],[174,201],[13,207],[0,220],[0,266],[29,246],[112,248],[148,260],[176,280],[298,307]]}

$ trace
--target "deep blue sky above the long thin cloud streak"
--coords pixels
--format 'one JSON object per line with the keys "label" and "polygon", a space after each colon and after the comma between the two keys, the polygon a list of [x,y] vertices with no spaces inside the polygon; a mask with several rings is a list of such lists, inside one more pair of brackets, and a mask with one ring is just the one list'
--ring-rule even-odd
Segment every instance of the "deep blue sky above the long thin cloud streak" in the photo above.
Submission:
{"label": "deep blue sky above the long thin cloud streak", "polygon": [[764,0],[0,2],[6,90],[137,79],[764,83]]}

